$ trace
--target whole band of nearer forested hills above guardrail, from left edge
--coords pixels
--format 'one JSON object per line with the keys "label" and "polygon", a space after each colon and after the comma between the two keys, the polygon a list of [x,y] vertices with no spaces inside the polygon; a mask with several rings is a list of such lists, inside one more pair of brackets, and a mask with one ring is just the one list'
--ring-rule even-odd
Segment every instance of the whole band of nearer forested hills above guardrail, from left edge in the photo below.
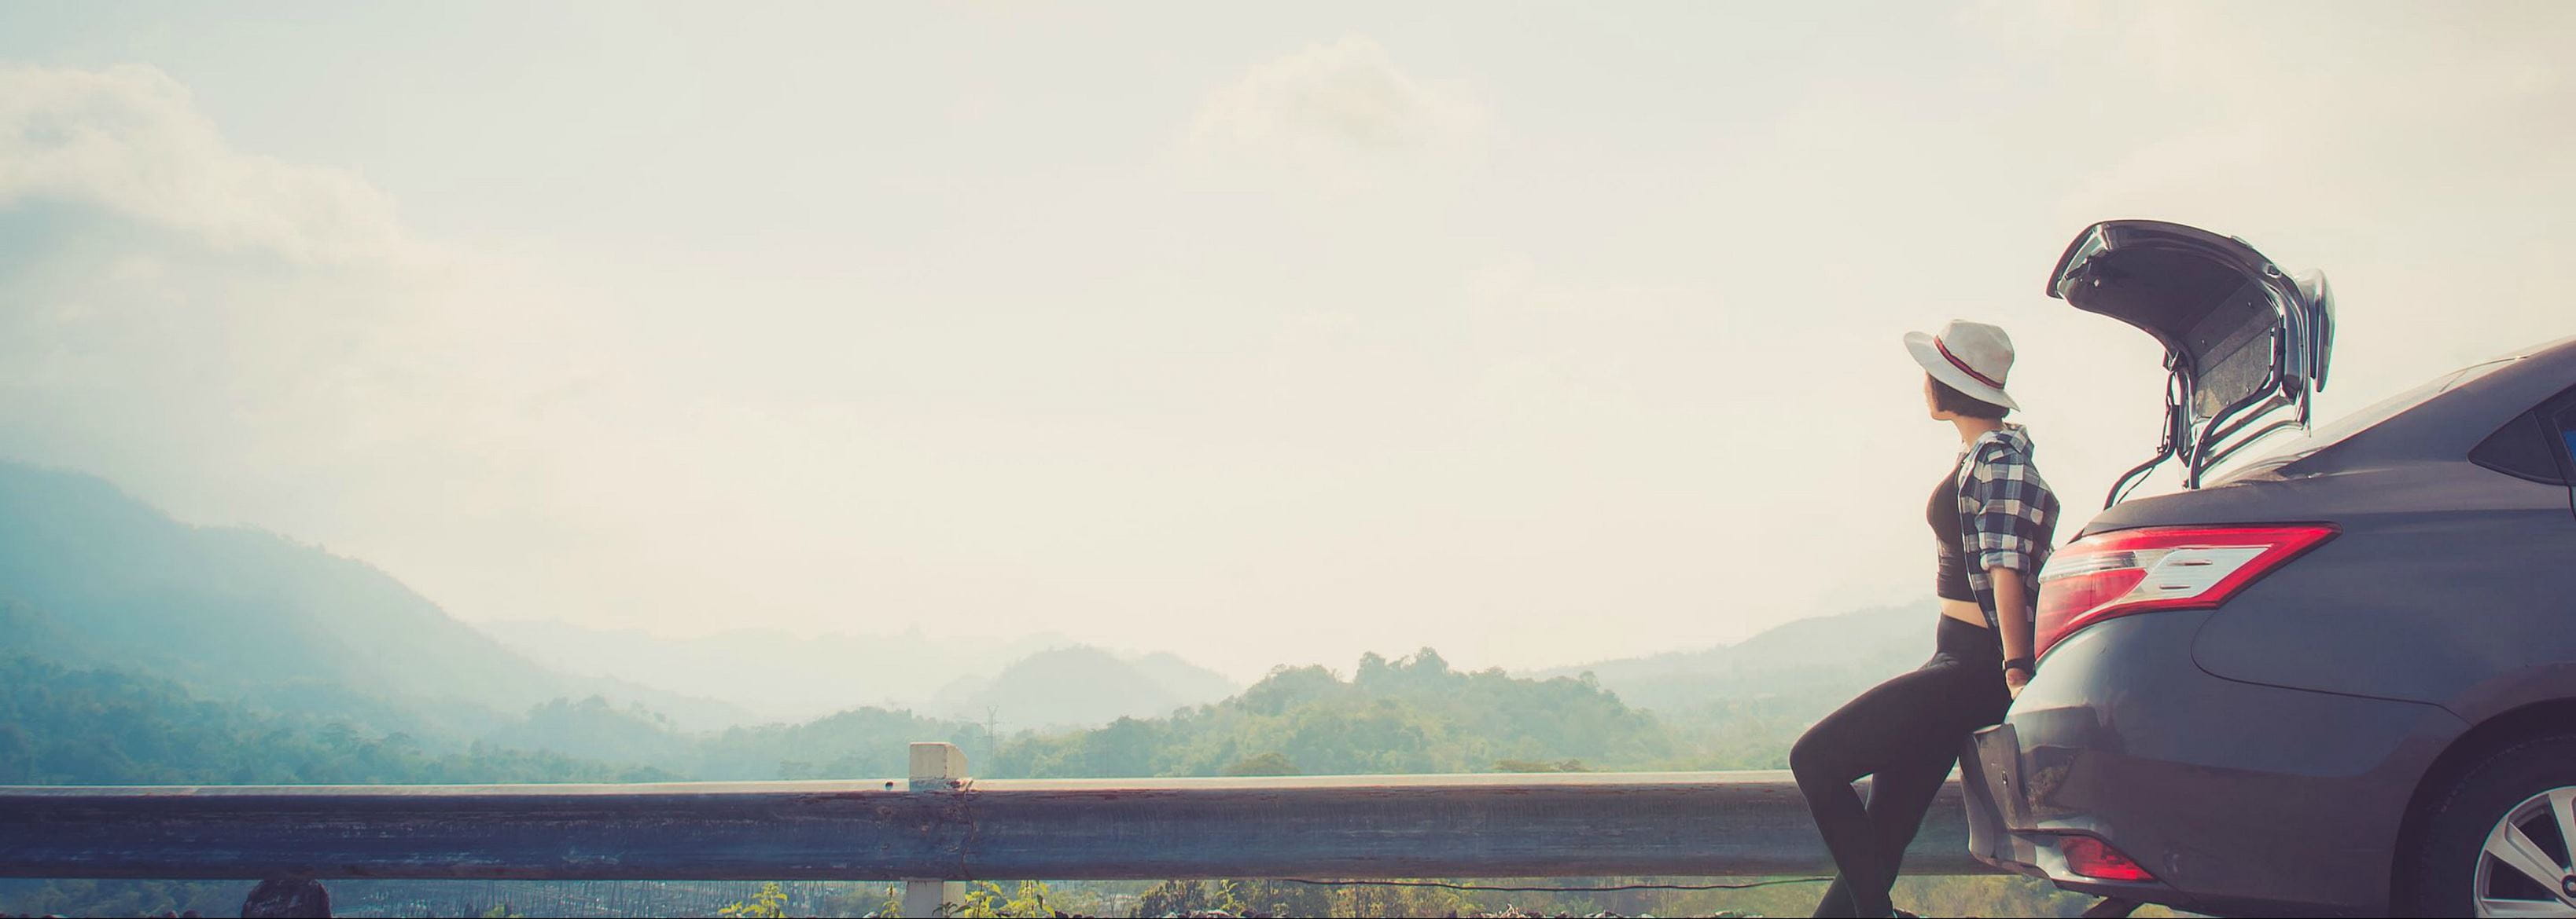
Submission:
{"label": "whole band of nearer forested hills above guardrail, from left edge", "polygon": [[0,656],[0,785],[13,783],[567,783],[873,780],[907,744],[963,747],[984,777],[1324,775],[1690,767],[1654,716],[1600,687],[1455,672],[1425,649],[1350,677],[1280,667],[1236,698],[1092,731],[984,736],[979,723],[855,708],[806,723],[683,731],[600,698],[556,700],[474,744],[255,713],[113,669]]}

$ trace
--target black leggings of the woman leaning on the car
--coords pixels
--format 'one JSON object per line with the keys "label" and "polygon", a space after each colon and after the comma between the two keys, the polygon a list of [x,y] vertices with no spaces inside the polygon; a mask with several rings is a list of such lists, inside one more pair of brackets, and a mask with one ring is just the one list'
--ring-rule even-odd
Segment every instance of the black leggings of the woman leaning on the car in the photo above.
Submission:
{"label": "black leggings of the woman leaning on the car", "polygon": [[[1968,731],[2004,721],[2004,654],[1994,633],[1942,615],[1932,659],[1860,692],[1788,752],[1839,875],[1816,916],[1886,916],[1888,888]],[[1860,803],[1852,783],[1870,780]]]}

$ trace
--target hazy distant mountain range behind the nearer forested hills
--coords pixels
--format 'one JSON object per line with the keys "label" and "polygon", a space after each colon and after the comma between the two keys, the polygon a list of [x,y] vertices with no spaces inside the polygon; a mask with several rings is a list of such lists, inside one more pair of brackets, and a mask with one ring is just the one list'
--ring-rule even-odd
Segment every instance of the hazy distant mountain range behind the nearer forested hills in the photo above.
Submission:
{"label": "hazy distant mountain range behind the nearer forested hills", "polygon": [[[1010,731],[1084,729],[1242,690],[1172,654],[1118,654],[1056,633],[477,628],[363,561],[273,533],[185,525],[100,479],[18,463],[0,463],[0,520],[10,523],[0,528],[0,651],[152,672],[216,698],[386,731],[484,736],[536,705],[592,695],[688,731],[858,705]],[[1734,646],[1528,677],[1589,672],[1628,705],[1664,713],[1821,700],[1911,667],[1929,628],[1929,608],[1878,608],[1795,620]]]}

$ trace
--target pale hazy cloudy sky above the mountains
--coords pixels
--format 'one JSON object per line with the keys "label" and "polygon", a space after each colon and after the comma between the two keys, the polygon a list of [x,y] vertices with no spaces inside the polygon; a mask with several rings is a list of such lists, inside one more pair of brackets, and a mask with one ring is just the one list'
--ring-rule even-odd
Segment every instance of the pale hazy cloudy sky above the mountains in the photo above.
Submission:
{"label": "pale hazy cloudy sky above the mountains", "polygon": [[2159,348],[2043,296],[2097,219],[2324,268],[2324,417],[2576,332],[2566,46],[2563,3],[10,3],[0,458],[464,620],[1700,649],[1929,605],[1909,330],[2012,332],[2061,535],[2146,458]]}

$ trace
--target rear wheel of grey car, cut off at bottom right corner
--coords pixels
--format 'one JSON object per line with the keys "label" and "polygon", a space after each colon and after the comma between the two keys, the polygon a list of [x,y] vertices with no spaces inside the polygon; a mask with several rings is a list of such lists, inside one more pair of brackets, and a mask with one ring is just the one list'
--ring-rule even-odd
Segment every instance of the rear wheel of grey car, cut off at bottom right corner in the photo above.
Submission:
{"label": "rear wheel of grey car, cut off at bottom right corner", "polygon": [[[2401,916],[2488,916],[2524,901],[2527,909],[2576,916],[2571,824],[2576,736],[2496,749],[2427,801],[2424,831],[2401,862],[2398,904],[2391,906]],[[2488,842],[2496,842],[2494,852]],[[2535,873],[2555,878],[2530,878]]]}

